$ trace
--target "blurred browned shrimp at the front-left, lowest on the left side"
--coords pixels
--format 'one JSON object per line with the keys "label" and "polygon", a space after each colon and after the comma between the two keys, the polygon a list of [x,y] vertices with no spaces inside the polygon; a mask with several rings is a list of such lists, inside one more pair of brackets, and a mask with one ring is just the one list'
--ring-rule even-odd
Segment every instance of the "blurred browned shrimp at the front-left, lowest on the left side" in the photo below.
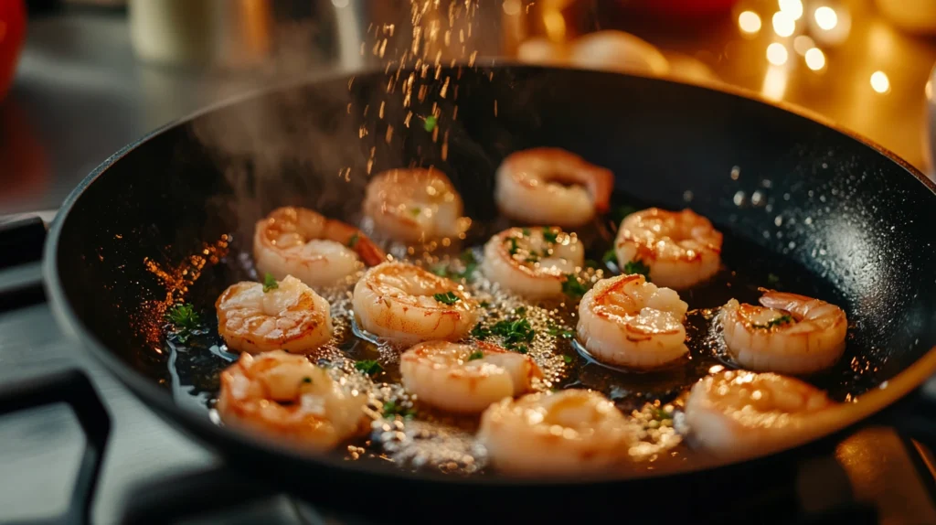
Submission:
{"label": "blurred browned shrimp at the front-left, lowest on the left side", "polygon": [[275,351],[221,372],[217,410],[227,425],[318,452],[366,430],[366,401],[307,358]]}

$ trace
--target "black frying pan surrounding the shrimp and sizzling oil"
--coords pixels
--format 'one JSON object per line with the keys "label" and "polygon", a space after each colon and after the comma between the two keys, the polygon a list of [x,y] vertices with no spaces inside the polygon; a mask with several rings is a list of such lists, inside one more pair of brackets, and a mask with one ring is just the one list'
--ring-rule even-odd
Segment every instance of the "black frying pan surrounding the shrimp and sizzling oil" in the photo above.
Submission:
{"label": "black frying pan surrounding the shrimp and sizzling oil", "polygon": [[[639,501],[674,487],[717,496],[712,492],[725,487],[768,482],[765,472],[782,463],[588,480],[407,473],[339,455],[303,457],[219,427],[203,405],[173,396],[169,357],[158,351],[163,323],[152,305],[202,293],[198,279],[236,265],[244,248],[237,241],[249,239],[245,232],[267,211],[302,204],[353,221],[367,172],[434,165],[483,229],[496,215],[500,161],[552,145],[612,169],[618,203],[689,206],[709,217],[729,236],[729,267],[763,275],[777,265],[790,275],[791,291],[822,294],[845,309],[852,335],[836,373],[860,400],[843,404],[834,421],[802,441],[855,425],[936,371],[936,188],[891,153],[788,110],[671,81],[520,66],[446,69],[446,77],[445,95],[443,80],[417,80],[410,108],[400,93],[387,93],[384,73],[268,91],[114,154],[66,199],[51,229],[45,272],[59,320],[170,423],[241,472],[317,502],[406,519],[440,508],[446,518],[505,508],[524,517],[542,510],[549,518],[582,518],[607,510],[606,503],[620,507],[622,498]],[[420,119],[433,104],[443,115],[434,140]],[[227,256],[192,258],[206,245],[218,248],[227,234]],[[672,512],[687,515],[702,508],[675,506]]]}

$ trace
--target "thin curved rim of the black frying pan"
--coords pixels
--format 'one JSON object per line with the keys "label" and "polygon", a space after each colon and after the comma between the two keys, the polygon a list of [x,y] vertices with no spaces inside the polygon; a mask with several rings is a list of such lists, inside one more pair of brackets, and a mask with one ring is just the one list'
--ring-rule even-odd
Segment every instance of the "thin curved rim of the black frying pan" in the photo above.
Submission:
{"label": "thin curved rim of the black frying pan", "polygon": [[[793,113],[801,118],[812,121],[815,124],[820,124],[825,126],[828,129],[831,129],[835,132],[838,132],[850,139],[856,140],[858,143],[863,144],[864,146],[869,147],[872,151],[875,151],[887,158],[888,160],[894,162],[900,168],[903,168],[911,176],[913,176],[917,181],[922,182],[923,185],[929,189],[929,192],[933,195],[936,195],[936,184],[929,180],[923,173],[918,169],[911,166],[909,163],[901,159],[897,154],[890,152],[883,146],[877,144],[876,142],[867,139],[863,136],[856,134],[855,132],[841,129],[837,124],[829,121],[828,119],[822,117],[821,115],[814,115],[812,111],[804,108],[800,108],[796,105],[789,103],[778,103],[778,101],[768,100],[764,97],[757,95],[756,93],[746,90],[743,88],[737,88],[735,86],[729,86],[727,84],[719,84],[718,88],[709,86],[709,85],[699,85],[694,83],[689,83],[681,80],[674,80],[670,78],[659,78],[659,77],[649,77],[643,75],[633,75],[633,74],[622,74],[622,73],[611,73],[611,72],[599,72],[592,70],[584,69],[574,69],[574,68],[557,68],[557,67],[546,67],[546,66],[529,66],[521,65],[519,63],[505,61],[501,59],[492,60],[490,63],[486,63],[483,66],[480,66],[485,69],[510,69],[510,68],[521,68],[529,70],[542,70],[542,71],[554,71],[557,69],[573,69],[578,71],[588,71],[589,73],[596,74],[607,74],[607,75],[622,75],[625,77],[633,77],[642,80],[648,80],[651,82],[666,82],[666,83],[676,83],[681,84],[692,89],[701,89],[709,92],[715,92],[721,95],[735,96],[739,98],[744,98],[757,102],[760,104],[767,105],[774,109],[779,109],[789,113]],[[828,418],[828,421],[825,425],[822,426],[818,431],[811,432],[809,435],[803,434],[799,436],[800,439],[797,439],[796,443],[789,444],[784,446],[782,449],[768,451],[762,454],[757,454],[752,457],[735,457],[733,459],[719,461],[715,464],[699,464],[694,467],[680,470],[676,472],[650,472],[650,473],[628,473],[627,475],[621,475],[621,473],[607,475],[588,477],[588,478],[578,478],[570,479],[565,477],[552,477],[552,478],[523,478],[523,477],[509,477],[504,475],[494,475],[494,476],[467,476],[467,477],[455,477],[445,474],[435,474],[435,473],[410,473],[405,472],[402,469],[374,469],[372,466],[358,463],[357,461],[346,461],[340,459],[333,454],[323,454],[323,455],[303,455],[299,452],[296,452],[292,449],[289,449],[284,446],[279,446],[271,443],[270,441],[257,439],[252,437],[249,434],[243,433],[241,431],[232,431],[221,428],[213,424],[208,418],[198,415],[194,410],[186,409],[185,407],[176,404],[172,400],[171,395],[168,395],[167,391],[163,388],[157,386],[153,381],[144,377],[140,372],[135,371],[129,365],[127,365],[122,359],[116,357],[114,353],[104,344],[101,343],[92,331],[87,328],[83,323],[80,322],[80,319],[75,314],[72,305],[65,297],[64,289],[62,288],[61,279],[59,277],[59,265],[58,265],[58,247],[60,236],[64,224],[70,214],[70,211],[74,208],[75,204],[80,200],[80,197],[85,193],[88,187],[90,187],[100,176],[102,176],[111,166],[117,163],[121,158],[126,154],[136,150],[141,145],[151,141],[155,137],[166,133],[168,130],[173,129],[181,124],[186,124],[194,121],[198,117],[216,111],[218,109],[223,109],[226,107],[234,106],[240,102],[254,99],[263,95],[270,95],[274,92],[285,91],[290,88],[296,88],[303,85],[313,84],[315,82],[324,82],[329,80],[338,80],[348,77],[357,77],[357,76],[367,76],[373,74],[379,74],[382,72],[382,69],[365,69],[365,70],[354,70],[348,71],[344,69],[332,70],[324,74],[314,74],[309,76],[304,76],[299,80],[290,80],[282,82],[279,84],[274,84],[271,86],[266,86],[258,88],[255,90],[250,90],[241,95],[235,95],[229,97],[225,100],[222,100],[218,103],[212,104],[206,108],[199,109],[188,116],[185,116],[180,119],[164,124],[154,131],[144,135],[140,139],[137,139],[119,150],[117,153],[113,153],[108,157],[104,162],[99,166],[94,168],[81,182],[68,194],[65,201],[63,202],[62,207],[59,209],[54,220],[52,221],[49,236],[45,242],[44,253],[43,253],[43,277],[44,285],[46,292],[50,299],[50,307],[52,314],[54,315],[57,323],[62,327],[66,333],[66,336],[72,337],[75,340],[80,341],[81,346],[87,349],[95,358],[98,359],[105,367],[109,370],[110,373],[114,374],[125,386],[128,386],[131,391],[134,392],[143,401],[146,401],[150,406],[148,408],[154,410],[163,416],[171,416],[172,419],[179,421],[180,425],[183,426],[192,435],[195,435],[203,445],[207,448],[216,450],[226,458],[226,460],[233,465],[238,464],[238,460],[232,457],[231,454],[227,454],[232,448],[239,450],[248,450],[250,449],[254,453],[260,453],[266,457],[278,457],[279,459],[289,459],[291,461],[298,461],[302,464],[307,465],[310,468],[329,468],[343,471],[344,474],[368,474],[370,477],[382,477],[386,478],[388,481],[404,481],[404,482],[432,482],[432,483],[446,483],[449,487],[567,487],[570,485],[597,485],[597,484],[624,484],[628,482],[634,482],[636,480],[647,480],[647,479],[658,479],[658,478],[671,478],[673,476],[687,476],[690,474],[698,474],[700,472],[711,472],[713,470],[722,470],[739,463],[748,462],[751,460],[760,460],[768,459],[775,457],[779,454],[785,452],[794,451],[802,445],[806,445],[813,441],[825,438],[831,434],[834,434],[838,431],[844,430],[848,427],[853,426],[858,421],[867,418],[881,410],[886,406],[892,404],[895,401],[898,401],[900,398],[906,394],[913,391],[923,382],[925,382],[929,377],[936,372],[936,347],[929,349],[922,357],[918,358],[913,364],[911,364],[906,369],[900,371],[896,376],[891,378],[885,388],[875,388],[870,392],[866,393],[861,397],[860,402],[856,403],[843,403],[839,409],[834,413],[834,416]],[[724,89],[723,89],[724,88]],[[273,476],[270,476],[271,478]]]}

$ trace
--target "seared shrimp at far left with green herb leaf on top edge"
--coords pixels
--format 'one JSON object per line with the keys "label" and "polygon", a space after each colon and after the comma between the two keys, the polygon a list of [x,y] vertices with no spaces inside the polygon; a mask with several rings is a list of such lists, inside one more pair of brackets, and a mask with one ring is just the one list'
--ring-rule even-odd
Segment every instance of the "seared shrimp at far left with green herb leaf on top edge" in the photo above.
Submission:
{"label": "seared shrimp at far left with green herb leaf on top edge", "polygon": [[309,353],[329,342],[329,301],[291,275],[263,289],[264,284],[249,281],[231,284],[214,303],[218,334],[229,348],[250,354]]}

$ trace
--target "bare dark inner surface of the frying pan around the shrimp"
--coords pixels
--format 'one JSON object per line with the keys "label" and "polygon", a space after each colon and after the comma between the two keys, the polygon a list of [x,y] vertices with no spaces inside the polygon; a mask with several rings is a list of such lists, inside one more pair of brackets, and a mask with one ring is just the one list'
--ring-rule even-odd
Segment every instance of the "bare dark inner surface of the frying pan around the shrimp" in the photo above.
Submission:
{"label": "bare dark inner surface of the frying pan around the shrimp", "polygon": [[[764,285],[839,304],[851,325],[846,355],[809,378],[838,401],[936,344],[927,221],[936,198],[884,154],[781,109],[662,80],[529,67],[446,73],[458,78],[448,88],[417,78],[425,95],[405,107],[382,73],[270,92],[105,164],[68,212],[57,254],[80,322],[208,417],[227,356],[213,329],[191,348],[168,344],[165,311],[184,299],[211,327],[227,284],[256,279],[251,233],[267,211],[301,205],[357,224],[370,175],[434,166],[460,190],[475,220],[465,243],[476,246],[506,226],[492,200],[501,160],[548,145],[610,168],[616,208],[688,207],[725,233],[725,269],[681,294],[690,308],[753,302]],[[592,259],[610,246],[608,219],[582,232]],[[692,359],[648,374],[608,371],[560,343],[569,363],[555,387],[600,389],[626,411],[673,401],[722,365],[707,328],[705,315],[691,316]],[[353,338],[344,350],[373,358]]]}

